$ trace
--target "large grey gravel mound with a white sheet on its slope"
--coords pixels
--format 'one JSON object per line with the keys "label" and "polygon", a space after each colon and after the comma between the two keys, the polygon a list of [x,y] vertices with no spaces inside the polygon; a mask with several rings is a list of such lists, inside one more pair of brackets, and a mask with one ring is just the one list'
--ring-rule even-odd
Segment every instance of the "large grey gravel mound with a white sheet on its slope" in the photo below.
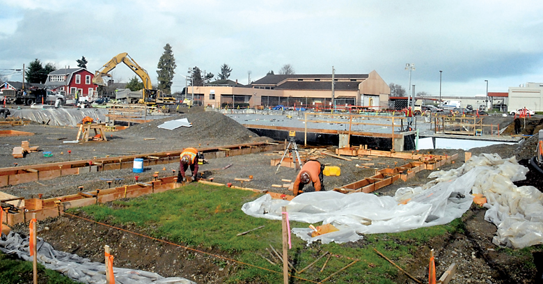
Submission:
{"label": "large grey gravel mound with a white sheet on its slope", "polygon": [[[158,128],[158,125],[170,120],[187,118],[192,127],[179,127],[168,130]],[[178,139],[183,142],[207,144],[239,144],[254,141],[257,134],[249,131],[232,118],[214,111],[184,113],[150,123],[142,123],[125,129],[123,136],[155,137],[156,139]]]}

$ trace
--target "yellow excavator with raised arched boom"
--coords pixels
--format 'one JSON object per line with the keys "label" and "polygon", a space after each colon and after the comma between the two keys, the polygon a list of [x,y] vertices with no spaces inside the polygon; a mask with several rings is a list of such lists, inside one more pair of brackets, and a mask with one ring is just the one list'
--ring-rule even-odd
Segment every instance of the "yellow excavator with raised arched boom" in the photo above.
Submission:
{"label": "yellow excavator with raised arched boom", "polygon": [[139,104],[175,104],[174,97],[165,97],[162,91],[152,88],[151,79],[145,69],[141,68],[132,57],[126,52],[118,54],[111,58],[100,70],[94,74],[93,83],[98,86],[106,86],[102,77],[111,77],[111,70],[115,69],[119,63],[125,63],[134,73],[136,73],[141,81],[143,81],[142,97],[138,101]]}

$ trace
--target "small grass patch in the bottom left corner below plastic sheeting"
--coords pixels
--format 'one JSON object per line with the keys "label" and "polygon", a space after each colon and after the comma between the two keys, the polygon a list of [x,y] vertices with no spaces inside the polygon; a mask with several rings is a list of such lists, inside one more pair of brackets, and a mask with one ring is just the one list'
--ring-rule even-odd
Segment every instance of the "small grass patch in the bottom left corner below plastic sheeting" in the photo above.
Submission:
{"label": "small grass patch in the bottom left corner below plastic sheeting", "polygon": [[[32,262],[13,260],[7,255],[0,253],[0,283],[17,284],[32,283],[33,268]],[[45,269],[38,263],[38,282],[47,284],[72,284],[78,283],[70,278],[50,269]]]}

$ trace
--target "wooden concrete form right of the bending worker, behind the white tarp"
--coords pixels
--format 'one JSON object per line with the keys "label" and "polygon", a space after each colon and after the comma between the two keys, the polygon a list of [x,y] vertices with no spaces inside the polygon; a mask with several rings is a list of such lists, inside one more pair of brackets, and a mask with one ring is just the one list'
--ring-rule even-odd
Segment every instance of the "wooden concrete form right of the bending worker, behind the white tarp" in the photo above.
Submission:
{"label": "wooden concrete form right of the bending worker, behind the white tarp", "polygon": [[443,159],[432,159],[427,161],[411,161],[410,163],[404,164],[403,166],[398,166],[395,168],[384,168],[382,170],[376,171],[375,175],[372,175],[370,178],[363,178],[356,182],[346,184],[343,187],[336,187],[335,191],[342,192],[344,194],[352,194],[355,192],[364,192],[369,194],[370,192],[386,187],[387,185],[392,184],[398,179],[404,181],[414,178],[415,174],[422,170],[434,170],[443,166],[444,164],[450,163],[451,161],[457,159],[458,154],[453,156],[448,156]]}

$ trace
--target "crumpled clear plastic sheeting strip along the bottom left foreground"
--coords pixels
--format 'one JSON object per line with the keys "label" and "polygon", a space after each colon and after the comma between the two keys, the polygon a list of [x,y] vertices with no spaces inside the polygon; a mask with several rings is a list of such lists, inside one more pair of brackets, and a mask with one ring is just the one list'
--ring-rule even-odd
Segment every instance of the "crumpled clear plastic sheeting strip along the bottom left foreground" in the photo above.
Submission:
{"label": "crumpled clear plastic sheeting strip along the bottom left foreground", "polygon": [[[45,268],[61,272],[81,283],[106,283],[106,265],[103,263],[91,262],[88,258],[81,258],[79,255],[56,251],[53,246],[39,238],[36,248],[38,248],[38,262]],[[2,235],[0,251],[8,255],[17,255],[22,260],[33,260],[29,253],[29,238],[23,238],[15,232],[10,232],[7,237]],[[164,278],[156,273],[134,269],[113,267],[113,274],[115,283],[120,284],[196,284],[185,278]]]}

